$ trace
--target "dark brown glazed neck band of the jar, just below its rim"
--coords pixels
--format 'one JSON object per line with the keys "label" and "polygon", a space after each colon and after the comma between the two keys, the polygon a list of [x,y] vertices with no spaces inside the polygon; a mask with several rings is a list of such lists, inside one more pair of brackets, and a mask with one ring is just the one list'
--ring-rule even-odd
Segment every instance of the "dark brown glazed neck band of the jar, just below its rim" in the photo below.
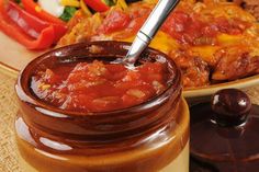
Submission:
{"label": "dark brown glazed neck band of the jar, just below its rim", "polygon": [[176,118],[181,98],[179,82],[180,79],[155,101],[140,104],[137,108],[106,115],[71,116],[32,106],[21,96],[20,111],[32,131],[48,138],[69,138],[87,142],[113,141],[149,133]]}

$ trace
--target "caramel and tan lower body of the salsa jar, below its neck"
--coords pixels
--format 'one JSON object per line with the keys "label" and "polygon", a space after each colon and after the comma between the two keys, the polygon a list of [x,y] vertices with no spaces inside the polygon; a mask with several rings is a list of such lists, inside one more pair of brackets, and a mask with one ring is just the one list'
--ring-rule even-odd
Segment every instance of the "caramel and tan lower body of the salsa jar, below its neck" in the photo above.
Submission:
{"label": "caramel and tan lower body of the salsa jar, below its neck", "polygon": [[[188,172],[190,119],[185,101],[181,99],[179,102],[172,110],[178,113],[176,118],[164,127],[137,141],[130,139],[112,144],[112,147],[124,145],[122,150],[89,156],[83,152],[101,150],[102,146],[92,148],[81,144],[80,148],[75,148],[79,151],[72,152],[69,145],[35,134],[35,128],[30,128],[20,112],[15,128],[21,165],[26,172]],[[174,114],[172,111],[168,113]],[[109,146],[104,144],[103,147]]]}

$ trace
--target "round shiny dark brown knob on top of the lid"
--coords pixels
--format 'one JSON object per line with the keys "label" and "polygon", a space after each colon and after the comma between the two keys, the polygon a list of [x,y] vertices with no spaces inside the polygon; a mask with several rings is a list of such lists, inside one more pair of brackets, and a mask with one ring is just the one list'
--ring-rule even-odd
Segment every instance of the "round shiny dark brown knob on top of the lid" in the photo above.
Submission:
{"label": "round shiny dark brown knob on top of the lid", "polygon": [[211,100],[213,119],[221,126],[238,126],[246,122],[251,102],[246,93],[237,89],[217,91]]}

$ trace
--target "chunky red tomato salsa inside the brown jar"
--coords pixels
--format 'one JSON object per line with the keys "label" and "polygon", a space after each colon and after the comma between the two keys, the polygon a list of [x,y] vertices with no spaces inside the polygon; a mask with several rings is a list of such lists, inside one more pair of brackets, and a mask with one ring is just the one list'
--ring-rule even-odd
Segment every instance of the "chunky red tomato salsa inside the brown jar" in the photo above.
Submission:
{"label": "chunky red tomato salsa inside the brown jar", "polygon": [[144,62],[134,70],[120,64],[59,64],[37,71],[31,88],[37,98],[63,110],[105,112],[140,104],[167,87],[168,68]]}

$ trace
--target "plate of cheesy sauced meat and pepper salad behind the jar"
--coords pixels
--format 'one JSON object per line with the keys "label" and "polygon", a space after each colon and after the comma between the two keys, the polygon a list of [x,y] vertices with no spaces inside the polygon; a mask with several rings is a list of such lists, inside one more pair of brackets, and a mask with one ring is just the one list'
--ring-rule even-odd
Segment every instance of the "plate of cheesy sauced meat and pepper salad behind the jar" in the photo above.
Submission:
{"label": "plate of cheesy sauced meat and pepper salad behind the jar", "polygon": [[[42,13],[45,9],[41,1],[27,2],[22,0],[22,7],[14,2],[9,2],[8,5],[2,2],[1,5],[2,18],[11,20],[12,24],[19,23],[19,18],[13,14],[15,10],[16,13],[29,12],[43,21],[37,23],[37,26],[43,27],[38,28],[38,33],[30,30],[25,32],[20,24],[22,35],[26,35],[30,41],[42,41],[38,45],[24,42],[1,24],[4,34],[22,44],[0,35],[1,46],[4,47],[1,50],[1,62],[19,70],[37,55],[54,48],[53,45],[61,47],[91,41],[132,42],[157,1],[126,3],[117,0],[104,5],[83,3],[85,1],[66,4],[66,1],[61,1],[63,8],[53,4],[52,8],[56,10],[48,9],[48,13],[56,16],[54,19],[48,18],[46,12]],[[255,10],[252,15],[237,4],[239,1],[235,2],[182,0],[150,44],[150,47],[170,56],[181,69],[184,96],[189,100],[203,100],[224,88],[244,89],[259,83],[257,13]],[[252,9],[249,1],[245,7],[250,11]],[[63,12],[58,13],[58,10]],[[23,15],[20,16],[22,19]],[[52,42],[45,43],[40,38],[49,25],[53,27]]]}

